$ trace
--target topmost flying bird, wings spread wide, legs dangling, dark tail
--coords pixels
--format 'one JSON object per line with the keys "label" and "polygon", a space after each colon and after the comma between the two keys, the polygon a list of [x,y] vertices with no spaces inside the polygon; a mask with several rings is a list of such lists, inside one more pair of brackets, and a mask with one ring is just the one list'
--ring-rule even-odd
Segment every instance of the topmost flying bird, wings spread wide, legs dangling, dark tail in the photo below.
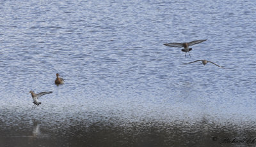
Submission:
{"label": "topmost flying bird, wings spread wide, legs dangling, dark tail", "polygon": [[[189,48],[189,46],[192,46],[192,45],[196,45],[196,44],[198,44],[198,43],[202,43],[202,42],[204,42],[204,41],[206,41],[207,39],[204,39],[204,40],[195,40],[195,41],[191,41],[191,42],[189,42],[189,43],[164,43],[164,45],[166,45],[166,46],[170,46],[170,47],[177,47],[177,48],[184,48],[184,49],[182,49],[181,51],[182,52],[185,52],[185,58],[186,58],[186,53],[188,52],[189,53],[189,51],[191,51],[192,50],[192,48]],[[190,53],[189,53],[189,57],[191,57],[190,56]]]}

